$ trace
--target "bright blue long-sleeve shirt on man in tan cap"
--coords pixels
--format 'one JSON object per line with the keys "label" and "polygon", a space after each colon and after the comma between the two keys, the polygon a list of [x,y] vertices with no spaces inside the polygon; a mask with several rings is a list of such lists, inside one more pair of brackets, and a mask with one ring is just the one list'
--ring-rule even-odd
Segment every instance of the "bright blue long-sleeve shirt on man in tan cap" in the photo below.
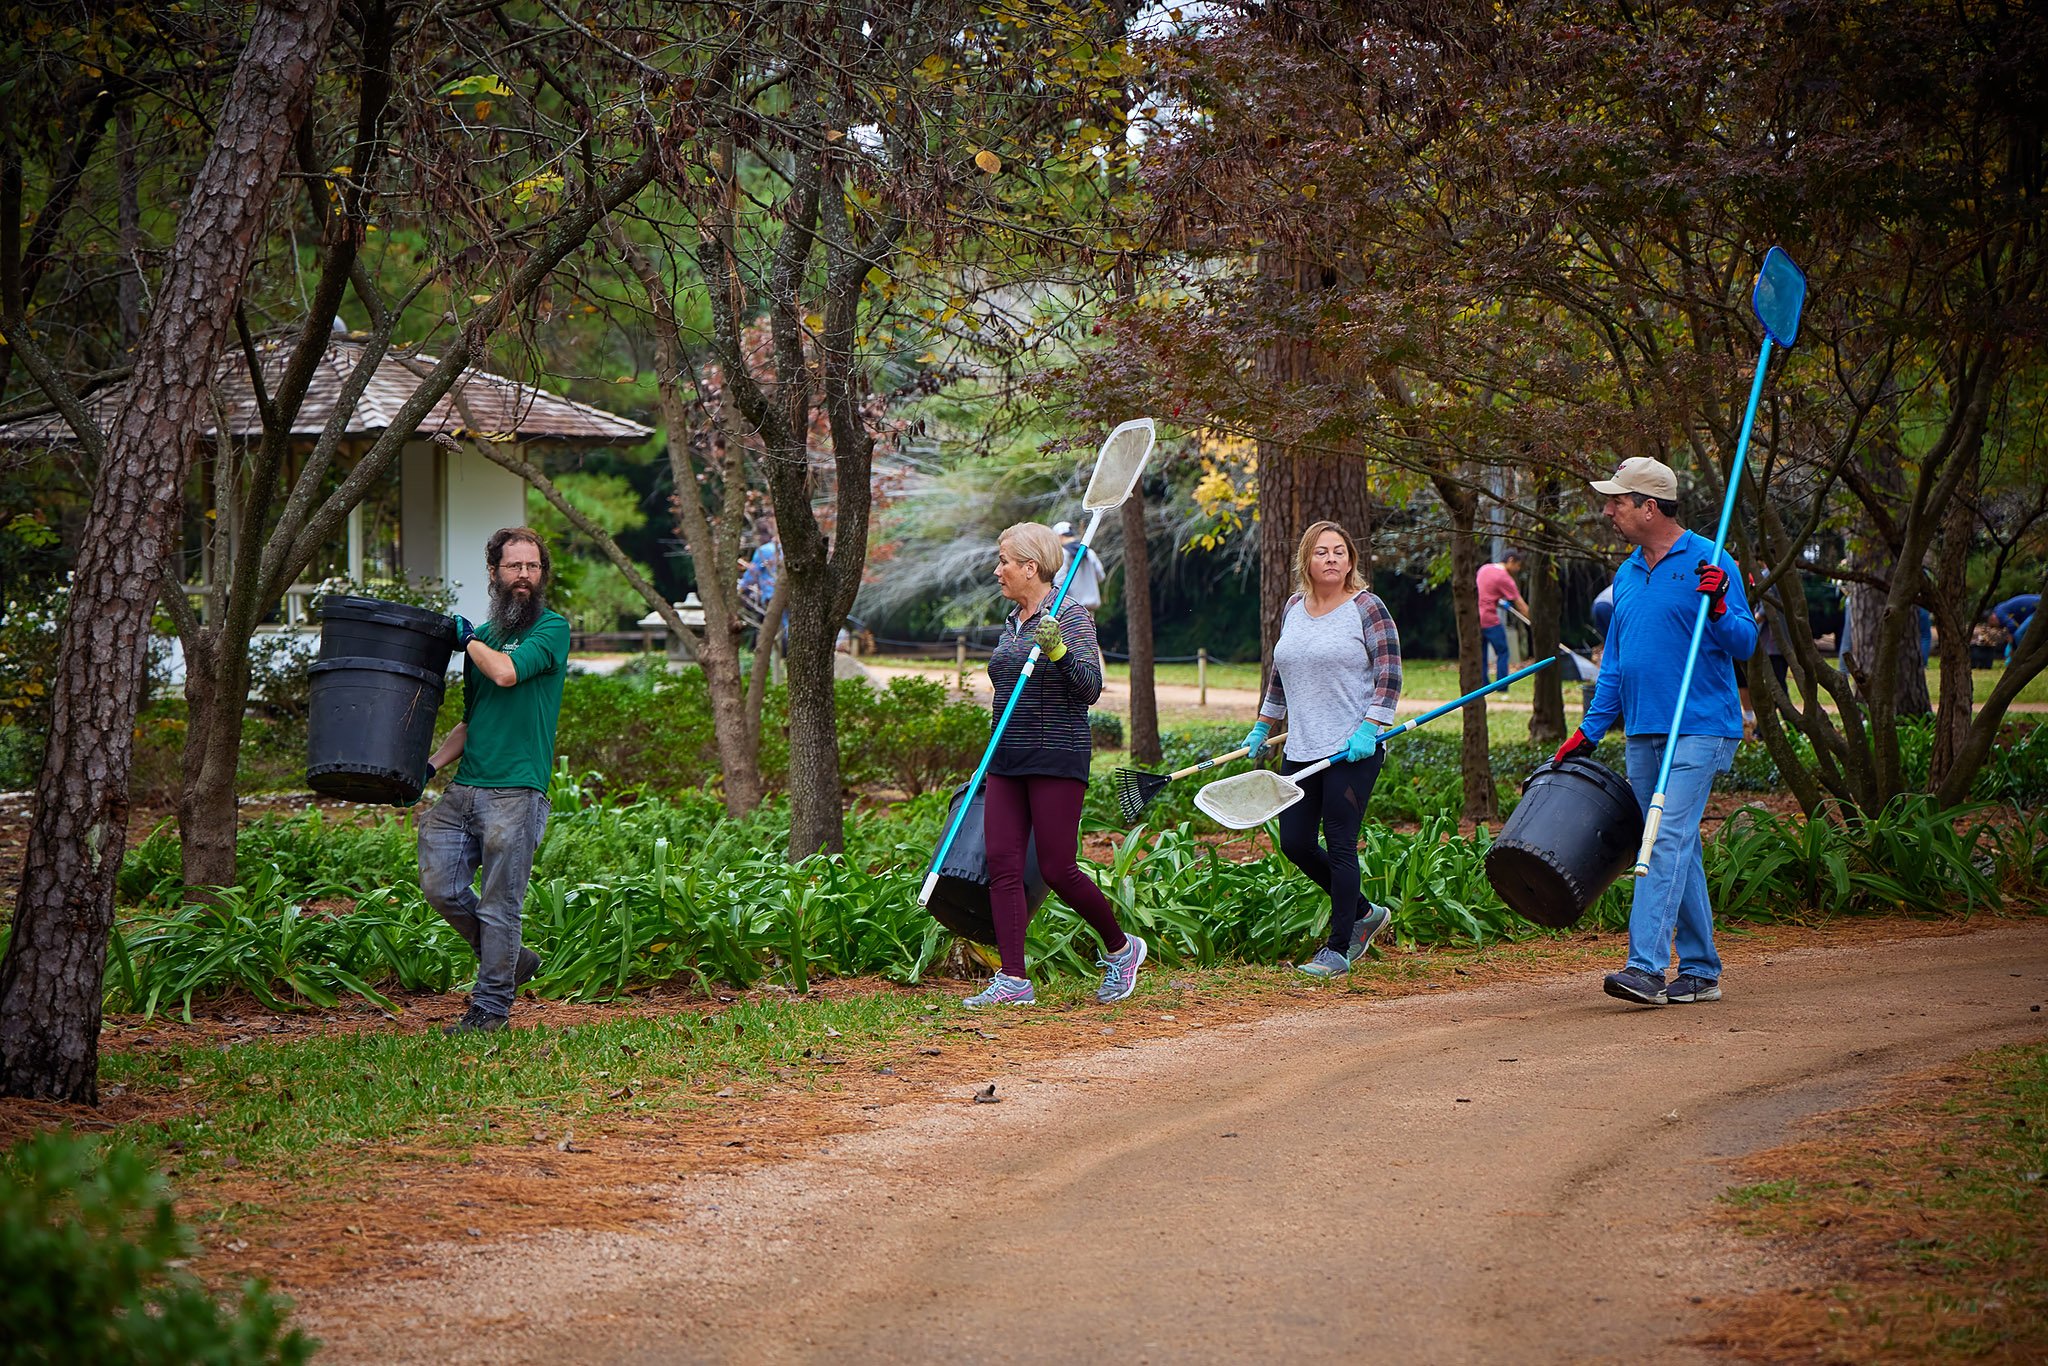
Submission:
{"label": "bright blue long-sleeve shirt on man in tan cap", "polygon": [[[1614,575],[1614,621],[1608,625],[1608,649],[1599,657],[1599,682],[1593,684],[1593,705],[1579,725],[1593,743],[1599,743],[1618,717],[1626,721],[1630,735],[1671,733],[1686,647],[1692,643],[1692,623],[1700,616],[1700,561],[1712,549],[1712,541],[1688,530],[1671,543],[1657,567],[1642,559],[1642,547],[1622,561]],[[1708,618],[1700,637],[1700,661],[1692,670],[1686,719],[1677,731],[1741,739],[1743,698],[1735,690],[1735,661],[1755,653],[1757,618],[1749,612],[1735,559],[1722,551],[1714,563],[1729,571],[1729,610],[1720,621]]]}

